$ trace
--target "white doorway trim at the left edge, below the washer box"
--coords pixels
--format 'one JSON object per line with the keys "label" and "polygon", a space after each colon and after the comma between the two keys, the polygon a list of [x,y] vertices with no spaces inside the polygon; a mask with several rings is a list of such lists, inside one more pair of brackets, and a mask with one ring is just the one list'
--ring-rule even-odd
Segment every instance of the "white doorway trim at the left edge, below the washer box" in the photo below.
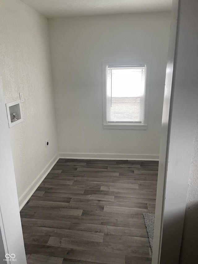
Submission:
{"label": "white doorway trim at the left edge, below the washer box", "polygon": [[[5,255],[15,255],[18,263],[27,264],[19,213],[15,173],[9,138],[6,106],[0,77],[0,232]],[[0,244],[2,246],[2,243]],[[1,249],[2,252],[2,249]],[[1,256],[7,259],[6,256]],[[11,263],[0,259],[0,263]]]}

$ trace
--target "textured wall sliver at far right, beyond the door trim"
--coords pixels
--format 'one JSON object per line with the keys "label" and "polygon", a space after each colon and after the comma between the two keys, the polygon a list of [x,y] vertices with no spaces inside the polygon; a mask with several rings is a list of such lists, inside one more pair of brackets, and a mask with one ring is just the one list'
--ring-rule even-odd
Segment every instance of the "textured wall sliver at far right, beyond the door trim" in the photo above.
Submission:
{"label": "textured wall sliver at far right, beyond the door trim", "polygon": [[198,262],[198,113],[188,183],[180,264]]}

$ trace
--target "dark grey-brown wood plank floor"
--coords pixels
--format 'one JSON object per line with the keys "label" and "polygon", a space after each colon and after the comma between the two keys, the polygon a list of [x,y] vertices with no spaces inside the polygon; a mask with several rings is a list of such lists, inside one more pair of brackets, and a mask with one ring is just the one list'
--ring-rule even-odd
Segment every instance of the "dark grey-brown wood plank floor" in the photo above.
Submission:
{"label": "dark grey-brown wood plank floor", "polygon": [[150,264],[157,161],[59,159],[21,210],[28,264]]}

